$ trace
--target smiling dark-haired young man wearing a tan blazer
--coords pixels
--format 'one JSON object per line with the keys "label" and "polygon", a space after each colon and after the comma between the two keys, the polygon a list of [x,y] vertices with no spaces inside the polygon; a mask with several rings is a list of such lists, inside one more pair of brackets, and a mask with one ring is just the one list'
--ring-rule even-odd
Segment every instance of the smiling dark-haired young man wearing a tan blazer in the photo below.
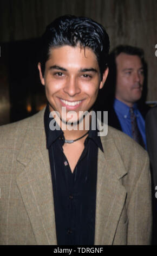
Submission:
{"label": "smiling dark-haired young man wearing a tan blazer", "polygon": [[149,244],[146,151],[112,127],[98,136],[90,117],[86,124],[108,74],[106,31],[62,16],[42,42],[38,69],[48,105],[1,127],[1,244]]}

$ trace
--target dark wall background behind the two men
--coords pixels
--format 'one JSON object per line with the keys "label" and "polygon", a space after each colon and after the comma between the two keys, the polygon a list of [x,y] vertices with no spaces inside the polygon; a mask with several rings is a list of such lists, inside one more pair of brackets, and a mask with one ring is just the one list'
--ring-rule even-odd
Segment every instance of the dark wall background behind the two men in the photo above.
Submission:
{"label": "dark wall background behind the two men", "polygon": [[[38,70],[38,39],[64,14],[100,22],[119,44],[143,48],[148,64],[148,101],[157,100],[156,0],[0,0],[0,125],[32,115],[46,103]],[[109,85],[107,85],[109,86]],[[106,98],[101,92],[100,105]]]}

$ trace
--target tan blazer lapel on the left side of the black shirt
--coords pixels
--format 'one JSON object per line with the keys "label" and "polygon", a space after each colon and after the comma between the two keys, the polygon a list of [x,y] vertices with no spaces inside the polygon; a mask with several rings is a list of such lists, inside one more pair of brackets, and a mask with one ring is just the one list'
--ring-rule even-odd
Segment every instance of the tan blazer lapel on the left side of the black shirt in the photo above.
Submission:
{"label": "tan blazer lapel on the left side of the black shirt", "polygon": [[[17,185],[28,212],[37,244],[57,245],[53,187],[46,148],[43,112],[32,118],[17,161]],[[38,127],[36,127],[38,125]],[[18,170],[17,170],[18,172]]]}

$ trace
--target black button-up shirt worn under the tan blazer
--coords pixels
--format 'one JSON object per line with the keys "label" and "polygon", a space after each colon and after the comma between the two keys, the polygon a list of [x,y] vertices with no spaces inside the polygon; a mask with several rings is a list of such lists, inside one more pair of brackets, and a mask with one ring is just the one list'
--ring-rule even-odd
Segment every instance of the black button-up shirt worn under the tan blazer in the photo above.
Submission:
{"label": "black button-up shirt worn under the tan blazer", "polygon": [[[102,151],[97,131],[89,131],[74,172],[63,153],[64,133],[50,130],[49,107],[44,124],[53,182],[58,245],[93,245],[95,235],[97,152]],[[76,149],[77,150],[77,149]]]}

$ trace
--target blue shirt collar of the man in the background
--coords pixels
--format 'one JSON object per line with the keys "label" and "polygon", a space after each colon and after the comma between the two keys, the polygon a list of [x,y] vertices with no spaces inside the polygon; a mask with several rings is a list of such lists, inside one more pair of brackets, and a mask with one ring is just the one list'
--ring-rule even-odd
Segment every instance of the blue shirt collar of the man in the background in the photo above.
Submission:
{"label": "blue shirt collar of the man in the background", "polygon": [[[119,113],[119,115],[121,115],[122,117],[124,117],[124,118],[129,117],[130,107],[127,106],[125,103],[121,102],[120,100],[115,99],[113,107],[114,107],[115,111],[117,113]],[[137,107],[136,103],[134,103],[133,109],[134,109],[134,113],[137,114],[138,107]]]}

